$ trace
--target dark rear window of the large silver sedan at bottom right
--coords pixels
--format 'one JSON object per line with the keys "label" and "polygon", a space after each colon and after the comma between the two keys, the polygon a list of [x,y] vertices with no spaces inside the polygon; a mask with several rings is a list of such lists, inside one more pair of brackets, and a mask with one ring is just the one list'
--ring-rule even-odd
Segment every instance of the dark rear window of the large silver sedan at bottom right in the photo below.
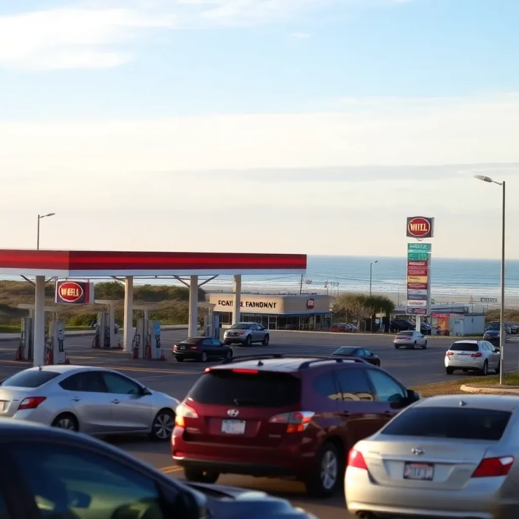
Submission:
{"label": "dark rear window of the large silver sedan at bottom right", "polygon": [[380,432],[458,440],[501,439],[512,413],[467,407],[411,407]]}

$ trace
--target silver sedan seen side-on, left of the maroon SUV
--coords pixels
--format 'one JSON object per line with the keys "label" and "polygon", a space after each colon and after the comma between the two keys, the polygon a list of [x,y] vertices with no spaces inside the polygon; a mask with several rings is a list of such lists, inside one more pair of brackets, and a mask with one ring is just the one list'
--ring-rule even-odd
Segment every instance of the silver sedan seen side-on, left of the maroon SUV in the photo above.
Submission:
{"label": "silver sedan seen side-on, left of the maroon SUV", "polygon": [[40,366],[0,384],[0,419],[104,436],[146,433],[168,441],[179,401],[113,370]]}

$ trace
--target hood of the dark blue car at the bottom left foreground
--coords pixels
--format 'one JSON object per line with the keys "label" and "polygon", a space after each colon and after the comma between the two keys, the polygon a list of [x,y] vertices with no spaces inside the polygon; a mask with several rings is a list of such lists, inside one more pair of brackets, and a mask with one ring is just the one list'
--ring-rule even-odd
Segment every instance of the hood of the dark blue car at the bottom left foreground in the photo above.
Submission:
{"label": "hood of the dark blue car at the bottom left foreground", "polygon": [[272,519],[276,517],[317,519],[315,515],[302,509],[294,508],[290,501],[269,496],[261,491],[203,483],[184,484],[206,496],[207,508],[215,519],[220,519],[221,517],[241,519],[247,516],[253,518],[269,517]]}

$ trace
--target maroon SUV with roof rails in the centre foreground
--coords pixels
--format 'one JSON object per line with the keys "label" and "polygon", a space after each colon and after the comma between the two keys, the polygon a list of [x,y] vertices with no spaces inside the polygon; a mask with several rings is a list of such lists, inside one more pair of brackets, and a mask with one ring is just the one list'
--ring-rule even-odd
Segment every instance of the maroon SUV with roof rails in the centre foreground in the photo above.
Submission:
{"label": "maroon SUV with roof rails in the centre foreground", "polygon": [[239,357],[208,367],[177,407],[171,452],[188,481],[286,476],[327,497],[349,449],[419,398],[358,358]]}

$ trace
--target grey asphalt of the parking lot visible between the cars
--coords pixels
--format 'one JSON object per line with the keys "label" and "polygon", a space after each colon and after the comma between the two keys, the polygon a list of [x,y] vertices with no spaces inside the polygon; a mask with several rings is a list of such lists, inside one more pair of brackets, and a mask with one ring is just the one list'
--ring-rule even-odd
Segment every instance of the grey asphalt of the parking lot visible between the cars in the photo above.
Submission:
{"label": "grey asphalt of the parking lot visible between the cars", "polygon": [[[140,380],[151,389],[183,399],[204,368],[211,365],[189,361],[178,363],[172,358],[173,344],[184,337],[183,330],[162,332],[161,343],[165,349],[167,362],[131,360],[130,355],[125,352],[94,350],[90,347],[91,336],[69,336],[65,341],[65,349],[72,364],[110,367]],[[454,376],[445,374],[443,356],[452,342],[453,339],[449,338],[431,337],[426,350],[397,350],[392,344],[392,336],[272,331],[270,345],[267,347],[253,345],[250,348],[234,347],[233,350],[236,357],[268,352],[328,356],[339,346],[361,346],[376,353],[381,359],[381,367],[397,377],[405,386],[412,387],[446,379],[462,381],[467,377],[466,374]],[[0,379],[25,367],[23,363],[14,360],[17,346],[15,341],[0,342]],[[519,342],[514,339],[507,342],[505,354],[507,371],[516,370]],[[141,439],[131,442],[118,439],[113,443],[170,474],[171,477],[182,479],[182,471],[172,463],[169,444],[157,445]],[[311,511],[321,519],[350,517],[345,510],[344,496],[339,494],[335,498],[324,501],[310,500],[305,497],[302,484],[296,482],[224,475],[218,483],[265,490],[270,494],[286,497],[296,506]]]}

